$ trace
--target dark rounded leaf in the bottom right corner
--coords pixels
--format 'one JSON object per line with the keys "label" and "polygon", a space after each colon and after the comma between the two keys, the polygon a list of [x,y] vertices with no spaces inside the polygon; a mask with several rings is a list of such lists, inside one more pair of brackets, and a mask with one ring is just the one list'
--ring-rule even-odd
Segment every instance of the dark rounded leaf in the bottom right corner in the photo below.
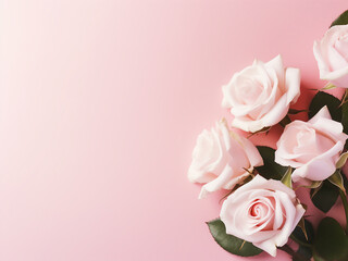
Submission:
{"label": "dark rounded leaf in the bottom right corner", "polygon": [[319,224],[314,251],[327,261],[348,260],[348,238],[339,223],[333,217],[324,217]]}

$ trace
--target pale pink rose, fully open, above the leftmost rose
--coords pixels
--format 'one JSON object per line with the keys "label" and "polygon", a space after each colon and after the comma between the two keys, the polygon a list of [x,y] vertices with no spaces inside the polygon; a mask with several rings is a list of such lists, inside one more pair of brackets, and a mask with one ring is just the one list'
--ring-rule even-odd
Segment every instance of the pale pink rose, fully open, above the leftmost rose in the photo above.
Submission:
{"label": "pale pink rose, fully open, above the leftmost rose", "polygon": [[234,115],[232,126],[254,133],[286,116],[300,95],[300,71],[284,67],[277,55],[268,63],[254,61],[222,87],[224,108]]}

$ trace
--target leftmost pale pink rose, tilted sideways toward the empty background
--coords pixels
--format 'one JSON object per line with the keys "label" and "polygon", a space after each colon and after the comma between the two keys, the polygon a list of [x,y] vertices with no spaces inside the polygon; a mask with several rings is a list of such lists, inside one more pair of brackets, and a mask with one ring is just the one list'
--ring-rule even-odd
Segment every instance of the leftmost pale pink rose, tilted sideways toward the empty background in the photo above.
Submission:
{"label": "leftmost pale pink rose, tilted sideways toward the empty background", "polygon": [[188,179],[206,183],[199,195],[203,198],[221,188],[232,189],[249,175],[253,166],[262,164],[254,145],[233,133],[226,122],[221,121],[211,132],[204,129],[198,136]]}

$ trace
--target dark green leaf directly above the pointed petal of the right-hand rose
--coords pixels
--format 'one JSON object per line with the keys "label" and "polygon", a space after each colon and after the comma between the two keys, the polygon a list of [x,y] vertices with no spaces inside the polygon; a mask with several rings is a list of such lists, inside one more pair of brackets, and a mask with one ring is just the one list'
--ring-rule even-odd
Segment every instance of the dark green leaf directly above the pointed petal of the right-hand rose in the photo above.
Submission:
{"label": "dark green leaf directly above the pointed petal of the right-hand rose", "polygon": [[327,107],[332,119],[336,122],[341,120],[340,100],[324,91],[318,91],[309,105],[308,117],[313,117],[324,105]]}

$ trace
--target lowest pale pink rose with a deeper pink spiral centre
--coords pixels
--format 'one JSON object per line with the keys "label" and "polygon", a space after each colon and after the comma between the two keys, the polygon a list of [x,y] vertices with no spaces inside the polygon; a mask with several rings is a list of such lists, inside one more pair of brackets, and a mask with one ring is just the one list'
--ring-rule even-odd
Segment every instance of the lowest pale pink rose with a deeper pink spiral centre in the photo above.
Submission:
{"label": "lowest pale pink rose with a deeper pink spiral centre", "polygon": [[293,189],[257,175],[224,201],[220,217],[226,233],[276,256],[304,213]]}

